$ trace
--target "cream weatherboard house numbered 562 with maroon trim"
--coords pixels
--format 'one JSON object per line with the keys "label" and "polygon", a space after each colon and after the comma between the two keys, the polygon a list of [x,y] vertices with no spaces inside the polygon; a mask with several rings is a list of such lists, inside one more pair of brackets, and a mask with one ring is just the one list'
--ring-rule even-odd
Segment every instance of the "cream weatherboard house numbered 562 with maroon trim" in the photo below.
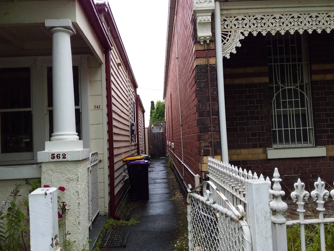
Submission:
{"label": "cream weatherboard house numbered 562 with maroon trim", "polygon": [[67,227],[82,246],[92,218],[113,217],[127,191],[122,159],[146,148],[113,14],[101,1],[5,0],[0,26],[0,201],[25,179],[66,187]]}

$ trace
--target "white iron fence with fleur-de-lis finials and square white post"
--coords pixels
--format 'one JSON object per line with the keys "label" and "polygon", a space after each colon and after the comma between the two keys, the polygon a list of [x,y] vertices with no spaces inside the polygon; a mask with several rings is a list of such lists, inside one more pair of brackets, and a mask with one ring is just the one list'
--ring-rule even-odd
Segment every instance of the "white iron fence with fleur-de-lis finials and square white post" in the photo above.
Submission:
{"label": "white iron fence with fleur-de-lis finials and square white post", "polygon": [[[334,199],[334,189],[330,192],[326,190],[325,182],[320,178],[314,182],[315,189],[311,193],[305,190],[305,184],[298,179],[290,194],[293,202],[298,206],[298,209],[295,209],[293,204],[288,208],[287,203],[282,200],[285,192],[282,191],[280,184],[282,179],[277,168],[275,168],[272,179],[273,189],[271,189],[272,182],[269,177],[265,179],[262,174],[258,176],[257,173],[252,173],[246,169],[238,169],[213,158],[208,160],[208,171],[209,180],[227,197],[228,202],[234,206],[240,204],[244,207],[246,212],[245,221],[251,229],[253,250],[287,251],[287,225],[296,224],[300,225],[300,249],[298,250],[306,251],[307,246],[315,248],[312,250],[326,250],[326,241],[328,242],[330,238],[326,237],[328,233],[325,229],[325,224],[334,222],[334,218],[324,218],[326,211],[324,204],[329,195]],[[262,185],[255,186],[255,184]],[[304,204],[310,195],[316,201],[316,205],[314,205],[316,207],[316,215],[311,217],[308,215],[310,219],[305,219],[306,210],[304,209]],[[216,198],[219,205],[226,205],[226,201],[219,197]],[[266,201],[269,200],[270,209],[266,207]],[[288,213],[297,211],[299,220],[287,219],[287,211]],[[269,222],[272,225],[269,231],[266,227],[268,225],[268,214],[272,215],[269,218]],[[305,239],[306,225],[308,227],[317,225],[319,228],[317,232],[319,234],[315,233],[314,236],[308,236],[312,240]],[[259,242],[264,242],[261,248],[258,246]],[[316,247],[318,245],[319,248]]]}

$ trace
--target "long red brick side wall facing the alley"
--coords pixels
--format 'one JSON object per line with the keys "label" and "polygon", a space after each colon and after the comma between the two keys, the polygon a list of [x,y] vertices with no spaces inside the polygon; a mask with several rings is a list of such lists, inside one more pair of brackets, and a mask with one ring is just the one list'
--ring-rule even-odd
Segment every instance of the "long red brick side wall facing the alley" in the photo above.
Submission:
{"label": "long red brick side wall facing the alley", "polygon": [[[195,71],[193,64],[195,56],[193,52],[194,47],[194,26],[193,26],[193,1],[185,0],[178,1],[177,6],[177,50],[178,50],[178,71],[179,71],[179,86],[180,86],[180,105],[181,105],[181,119],[182,119],[182,133],[183,133],[183,154],[184,163],[194,172],[199,173],[198,163],[200,158],[198,156],[197,148],[197,113],[196,113],[196,96],[195,96]],[[168,83],[166,89],[166,107],[168,107],[169,114],[167,115],[167,126],[170,134],[168,141],[174,143],[174,149],[168,147],[181,160],[181,130],[180,130],[180,114],[179,114],[179,100],[177,90],[177,74],[176,74],[176,41],[175,31],[172,42],[170,66]],[[173,121],[173,124],[172,124]],[[182,174],[182,165],[174,157],[174,164]],[[194,185],[193,175],[184,168],[185,181]]]}

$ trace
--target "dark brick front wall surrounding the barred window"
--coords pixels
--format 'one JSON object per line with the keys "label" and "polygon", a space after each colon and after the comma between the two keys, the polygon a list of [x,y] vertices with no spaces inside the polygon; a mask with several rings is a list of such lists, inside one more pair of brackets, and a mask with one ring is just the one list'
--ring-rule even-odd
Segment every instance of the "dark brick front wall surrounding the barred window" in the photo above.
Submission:
{"label": "dark brick front wall surrounding the barred window", "polygon": [[[334,145],[333,39],[334,33],[308,34],[316,146]],[[268,71],[249,70],[252,67],[261,68],[267,65],[265,37],[248,36],[241,44],[236,55],[231,55],[231,59],[224,59],[223,62],[224,69],[229,69],[224,72],[228,148],[231,150],[271,147],[268,82],[252,83],[252,78],[268,77]],[[231,70],[240,67],[249,67],[246,69],[249,72],[235,73]],[[240,79],[247,83],[233,83],[240,82]],[[289,185],[296,182],[297,176],[309,184],[319,175],[331,182],[334,178],[334,156],[230,160],[230,163],[270,177],[277,167],[283,182]],[[289,188],[291,189],[291,186]]]}

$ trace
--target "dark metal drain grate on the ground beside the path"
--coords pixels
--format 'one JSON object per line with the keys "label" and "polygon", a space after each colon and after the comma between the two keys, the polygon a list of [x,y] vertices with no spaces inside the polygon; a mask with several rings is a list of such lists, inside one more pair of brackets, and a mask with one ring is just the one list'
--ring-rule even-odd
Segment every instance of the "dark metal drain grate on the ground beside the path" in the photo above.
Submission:
{"label": "dark metal drain grate on the ground beside the path", "polygon": [[129,231],[106,230],[102,237],[102,248],[125,247],[128,240]]}

